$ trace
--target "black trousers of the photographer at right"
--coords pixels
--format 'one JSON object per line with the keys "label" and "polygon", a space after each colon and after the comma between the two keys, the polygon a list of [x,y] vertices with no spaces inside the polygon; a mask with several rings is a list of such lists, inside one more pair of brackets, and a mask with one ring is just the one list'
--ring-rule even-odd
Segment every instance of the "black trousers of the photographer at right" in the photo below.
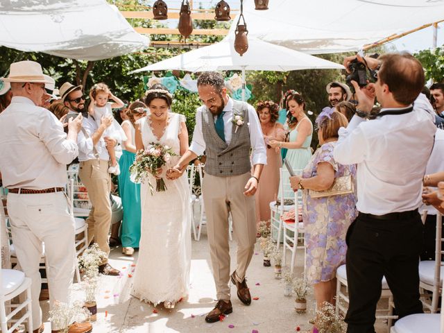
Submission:
{"label": "black trousers of the photographer at right", "polygon": [[375,311],[383,276],[400,318],[422,313],[418,274],[422,222],[418,212],[393,214],[385,220],[359,213],[346,239],[348,333],[375,332]]}

